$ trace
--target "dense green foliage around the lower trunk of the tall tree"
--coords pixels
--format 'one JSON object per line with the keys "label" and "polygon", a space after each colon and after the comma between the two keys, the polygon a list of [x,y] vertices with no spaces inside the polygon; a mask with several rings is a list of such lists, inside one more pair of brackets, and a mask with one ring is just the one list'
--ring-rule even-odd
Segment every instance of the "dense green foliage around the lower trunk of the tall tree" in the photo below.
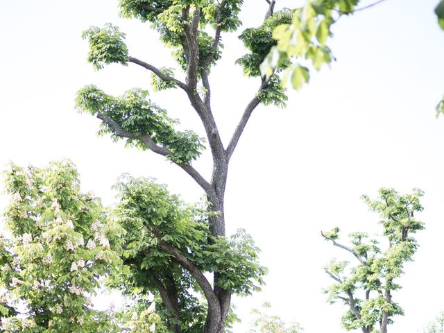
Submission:
{"label": "dense green foliage around the lower trunk of the tall tree", "polygon": [[[140,302],[154,293],[167,325],[180,325],[182,332],[189,333],[203,332],[206,305],[194,279],[165,252],[165,244],[179,250],[201,271],[217,271],[219,287],[241,295],[259,289],[266,269],[258,264],[259,250],[244,230],[215,239],[205,208],[185,205],[151,179],[124,176],[116,188],[121,201],[113,216],[126,230],[122,239],[126,269],[112,280],[113,287]],[[178,313],[165,305],[162,289],[176,293]]]}

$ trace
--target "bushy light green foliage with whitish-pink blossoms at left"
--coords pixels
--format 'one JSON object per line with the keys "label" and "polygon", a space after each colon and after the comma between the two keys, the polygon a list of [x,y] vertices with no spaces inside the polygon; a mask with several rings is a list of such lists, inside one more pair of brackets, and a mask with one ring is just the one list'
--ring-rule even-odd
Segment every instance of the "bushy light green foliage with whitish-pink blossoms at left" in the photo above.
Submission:
{"label": "bushy light green foliage with whitish-pink blossoms at left", "polygon": [[89,296],[121,265],[113,248],[124,230],[106,219],[100,200],[80,193],[75,167],[12,164],[6,191],[12,238],[0,239],[2,332],[116,332],[117,322],[94,310]]}

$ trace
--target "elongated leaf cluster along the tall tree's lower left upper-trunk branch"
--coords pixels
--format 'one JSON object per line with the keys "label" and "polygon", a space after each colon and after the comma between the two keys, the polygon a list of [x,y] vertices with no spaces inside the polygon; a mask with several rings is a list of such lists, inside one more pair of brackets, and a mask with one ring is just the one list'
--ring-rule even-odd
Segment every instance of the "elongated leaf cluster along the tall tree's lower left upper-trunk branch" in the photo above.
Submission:
{"label": "elongated leaf cluster along the tall tree's lower left upper-trunk branch", "polygon": [[[191,130],[183,132],[174,130],[178,121],[168,117],[167,112],[147,99],[148,92],[142,89],[128,90],[123,96],[110,96],[94,85],[80,89],[76,97],[76,106],[83,112],[90,114],[105,114],[115,121],[121,129],[132,133],[128,137],[128,146],[137,146],[147,149],[142,141],[148,135],[153,142],[160,144],[171,151],[167,158],[173,162],[189,164],[196,160],[205,146],[201,144],[203,138],[198,137]],[[110,133],[114,140],[121,139],[116,129],[103,123],[101,134]]]}

